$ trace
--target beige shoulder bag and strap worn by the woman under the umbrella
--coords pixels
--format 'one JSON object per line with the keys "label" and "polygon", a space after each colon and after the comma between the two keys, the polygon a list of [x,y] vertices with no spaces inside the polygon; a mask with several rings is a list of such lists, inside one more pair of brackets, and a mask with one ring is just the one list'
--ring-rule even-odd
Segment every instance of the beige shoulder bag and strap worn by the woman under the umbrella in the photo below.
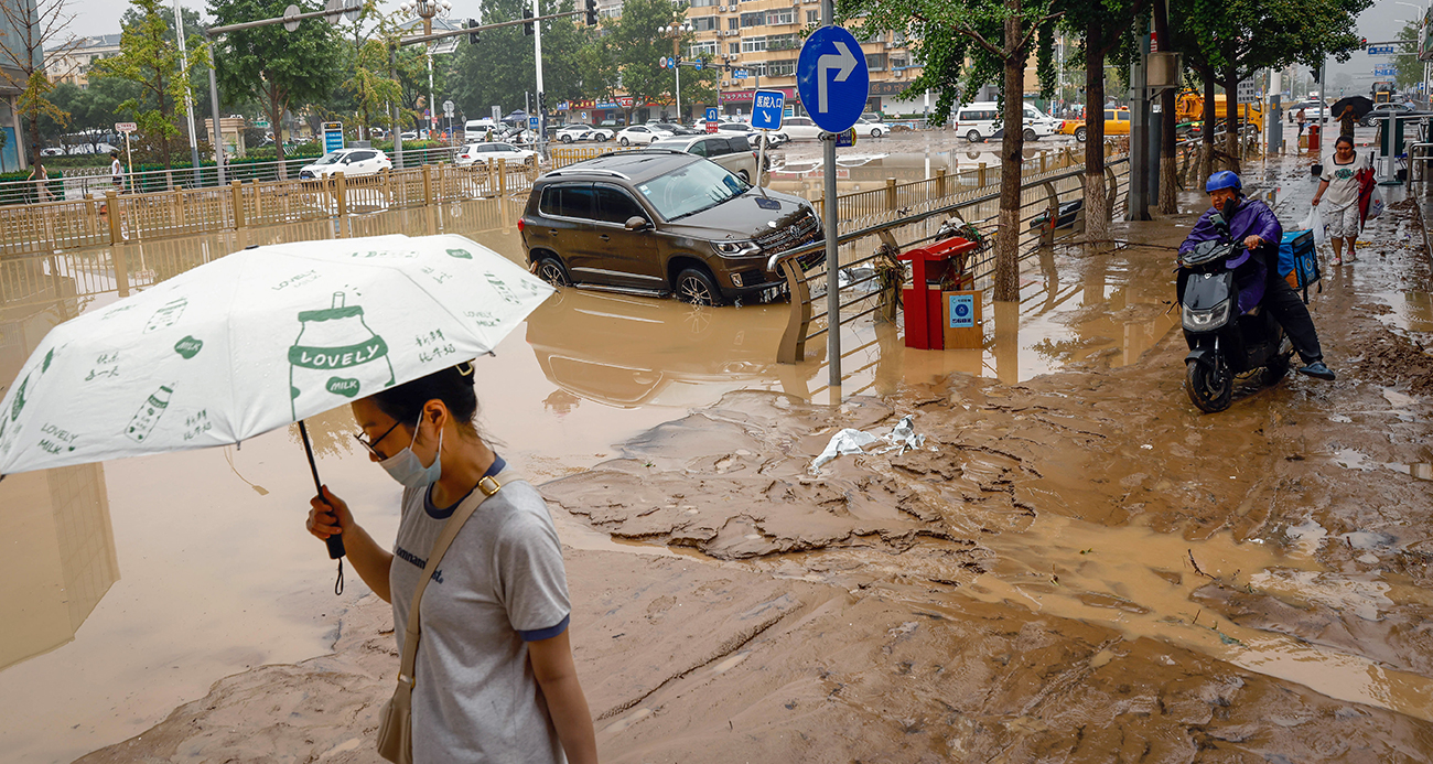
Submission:
{"label": "beige shoulder bag and strap worn by the woman under the umbrella", "polygon": [[479,480],[477,490],[483,493],[483,497],[476,502],[463,502],[463,506],[459,506],[457,512],[449,517],[447,525],[443,526],[443,532],[433,542],[428,563],[423,568],[418,589],[413,593],[413,603],[408,605],[408,626],[403,634],[398,685],[393,689],[393,698],[384,704],[381,722],[378,724],[378,755],[394,764],[413,764],[413,687],[417,684],[413,669],[418,659],[418,603],[423,601],[423,589],[428,586],[433,572],[437,570],[438,562],[443,559],[447,548],[457,538],[457,532],[463,529],[463,523],[473,516],[473,512],[483,502],[497,493],[503,487],[503,483],[516,480],[516,477],[509,477],[512,472],[503,470],[497,477],[484,476]]}

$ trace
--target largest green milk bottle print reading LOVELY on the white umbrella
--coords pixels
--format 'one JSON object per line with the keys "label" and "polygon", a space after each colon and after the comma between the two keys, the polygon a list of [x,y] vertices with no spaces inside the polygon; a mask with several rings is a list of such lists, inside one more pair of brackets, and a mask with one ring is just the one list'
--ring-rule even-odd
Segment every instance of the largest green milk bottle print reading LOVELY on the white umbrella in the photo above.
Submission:
{"label": "largest green milk bottle print reading LOVELY on the white umbrella", "polygon": [[368,328],[363,307],[332,305],[298,314],[298,338],[288,348],[288,391],[294,420],[298,410],[327,411],[394,383],[388,344]]}

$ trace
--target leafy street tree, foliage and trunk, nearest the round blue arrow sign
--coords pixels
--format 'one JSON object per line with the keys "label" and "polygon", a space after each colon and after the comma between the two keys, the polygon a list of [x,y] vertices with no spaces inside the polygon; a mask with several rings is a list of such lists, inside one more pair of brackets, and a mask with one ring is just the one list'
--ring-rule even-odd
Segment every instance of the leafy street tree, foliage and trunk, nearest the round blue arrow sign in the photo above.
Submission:
{"label": "leafy street tree, foliage and trunk, nearest the round blue arrow sign", "polygon": [[[661,0],[656,0],[661,1]],[[1042,89],[1055,86],[1050,56],[1055,0],[841,0],[838,19],[867,32],[901,32],[926,62],[906,93],[940,92],[933,116],[944,120],[986,83],[1000,83],[1002,122],[1023,125],[1025,67],[1037,52]],[[1020,169],[1025,135],[1005,130],[1000,143],[1000,212],[995,239],[995,298],[1013,301],[1019,287]]]}

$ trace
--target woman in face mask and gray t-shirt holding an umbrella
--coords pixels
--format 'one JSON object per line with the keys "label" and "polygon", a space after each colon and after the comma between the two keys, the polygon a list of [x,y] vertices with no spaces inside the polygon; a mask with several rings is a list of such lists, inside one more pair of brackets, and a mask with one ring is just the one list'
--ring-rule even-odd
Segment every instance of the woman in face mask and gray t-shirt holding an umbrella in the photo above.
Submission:
{"label": "woman in face mask and gray t-shirt holding an umbrella", "polygon": [[[596,761],[557,533],[537,490],[503,474],[503,457],[474,427],[471,363],[351,409],[368,459],[404,486],[397,540],[393,552],[378,546],[327,486],[311,500],[308,530],[342,536],[358,575],[393,603],[400,642],[427,558],[440,555],[420,593],[413,761]],[[469,516],[461,507],[474,500]],[[461,527],[434,552],[450,516]]]}

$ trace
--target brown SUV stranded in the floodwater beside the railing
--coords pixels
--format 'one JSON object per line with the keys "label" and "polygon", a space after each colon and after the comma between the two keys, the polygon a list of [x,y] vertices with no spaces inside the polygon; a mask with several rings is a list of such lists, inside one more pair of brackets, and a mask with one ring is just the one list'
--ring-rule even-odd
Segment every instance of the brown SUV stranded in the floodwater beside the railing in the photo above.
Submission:
{"label": "brown SUV stranded in the floodwater beside the railing", "polygon": [[517,229],[533,272],[550,284],[709,305],[778,297],[785,281],[768,269],[771,255],[823,239],[805,199],[755,189],[708,159],[662,149],[609,153],[543,175]]}

